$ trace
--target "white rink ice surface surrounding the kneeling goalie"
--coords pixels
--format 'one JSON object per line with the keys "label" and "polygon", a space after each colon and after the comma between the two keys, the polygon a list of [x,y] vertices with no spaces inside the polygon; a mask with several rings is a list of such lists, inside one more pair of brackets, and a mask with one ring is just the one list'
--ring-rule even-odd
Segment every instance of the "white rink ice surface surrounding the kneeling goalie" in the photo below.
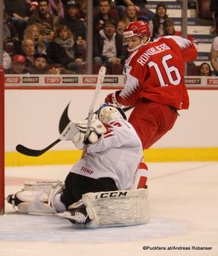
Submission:
{"label": "white rink ice surface surrounding the kneeling goalie", "polygon": [[[57,216],[19,214],[6,202],[6,214],[0,216],[0,255],[218,255],[218,163],[148,163],[148,166],[149,224],[77,229]],[[28,180],[64,180],[70,168],[6,168],[5,194],[21,189]]]}

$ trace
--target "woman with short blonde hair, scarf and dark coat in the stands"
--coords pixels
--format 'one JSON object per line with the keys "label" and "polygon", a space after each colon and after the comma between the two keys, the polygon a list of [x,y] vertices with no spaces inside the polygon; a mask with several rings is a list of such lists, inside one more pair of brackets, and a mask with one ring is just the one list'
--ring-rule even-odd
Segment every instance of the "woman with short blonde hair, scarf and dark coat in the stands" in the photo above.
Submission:
{"label": "woman with short blonde hair, scarf and dark coat in the stands", "polygon": [[47,53],[52,63],[60,64],[74,73],[79,73],[79,67],[84,61],[83,53],[66,25],[58,26],[54,32],[54,42],[49,45]]}

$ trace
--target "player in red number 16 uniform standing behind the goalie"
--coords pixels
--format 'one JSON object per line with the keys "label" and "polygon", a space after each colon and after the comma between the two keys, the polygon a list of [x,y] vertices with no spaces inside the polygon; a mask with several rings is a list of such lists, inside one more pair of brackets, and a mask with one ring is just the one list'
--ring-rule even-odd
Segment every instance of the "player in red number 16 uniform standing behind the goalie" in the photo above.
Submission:
{"label": "player in red number 16 uniform standing behind the goalie", "polygon": [[174,126],[177,110],[189,107],[185,62],[194,61],[198,52],[186,38],[165,36],[150,42],[149,26],[143,21],[129,23],[123,38],[129,50],[126,82],[105,101],[135,107],[129,123],[146,149]]}

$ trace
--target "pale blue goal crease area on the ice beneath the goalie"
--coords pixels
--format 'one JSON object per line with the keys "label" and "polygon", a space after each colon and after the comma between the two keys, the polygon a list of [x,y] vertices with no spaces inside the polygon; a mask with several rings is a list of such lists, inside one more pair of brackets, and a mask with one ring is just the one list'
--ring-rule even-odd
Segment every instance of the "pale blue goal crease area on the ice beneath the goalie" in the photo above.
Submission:
{"label": "pale blue goal crease area on the ice beneath the goalie", "polygon": [[[188,224],[175,219],[153,218],[149,224],[101,229],[75,228],[57,216],[7,214],[0,218],[0,240],[91,242],[137,241],[182,234]],[[32,228],[30,228],[32,227]]]}

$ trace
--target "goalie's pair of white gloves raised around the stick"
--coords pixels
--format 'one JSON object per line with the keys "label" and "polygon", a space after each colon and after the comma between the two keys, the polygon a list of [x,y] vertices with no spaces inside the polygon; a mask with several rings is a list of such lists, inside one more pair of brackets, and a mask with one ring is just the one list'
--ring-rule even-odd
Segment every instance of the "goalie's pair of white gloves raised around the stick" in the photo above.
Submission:
{"label": "goalie's pair of white gloves raised around the stick", "polygon": [[78,149],[83,149],[85,144],[97,143],[101,135],[106,132],[106,127],[99,119],[92,119],[87,139],[85,139],[87,126],[87,119],[71,121],[60,134],[60,140],[72,141]]}

